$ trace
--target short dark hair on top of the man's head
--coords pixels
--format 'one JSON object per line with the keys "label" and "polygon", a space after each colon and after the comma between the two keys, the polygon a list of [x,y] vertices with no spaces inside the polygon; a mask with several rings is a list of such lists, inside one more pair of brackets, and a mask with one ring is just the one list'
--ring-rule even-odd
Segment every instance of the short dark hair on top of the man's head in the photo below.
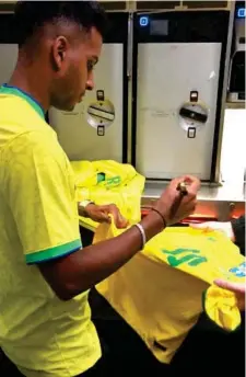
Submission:
{"label": "short dark hair on top of the man's head", "polygon": [[97,1],[19,1],[14,10],[19,46],[45,23],[60,19],[75,22],[85,31],[94,26],[102,36],[106,32],[106,13]]}

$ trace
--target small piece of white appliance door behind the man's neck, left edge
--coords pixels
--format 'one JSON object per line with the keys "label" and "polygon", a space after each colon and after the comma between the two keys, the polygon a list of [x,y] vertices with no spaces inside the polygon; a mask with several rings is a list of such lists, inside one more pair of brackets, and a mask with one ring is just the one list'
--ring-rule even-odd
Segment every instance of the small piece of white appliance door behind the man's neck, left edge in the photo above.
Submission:
{"label": "small piece of white appliance door behind the man's neck, left edge", "polygon": [[0,44],[0,85],[8,82],[17,60],[17,45]]}

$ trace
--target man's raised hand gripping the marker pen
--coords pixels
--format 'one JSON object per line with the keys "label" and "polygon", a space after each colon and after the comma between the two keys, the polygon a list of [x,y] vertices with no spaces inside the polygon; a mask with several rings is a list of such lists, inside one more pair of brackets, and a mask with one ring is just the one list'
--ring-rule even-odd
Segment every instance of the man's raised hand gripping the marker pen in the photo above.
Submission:
{"label": "man's raised hand gripping the marker pen", "polygon": [[[177,191],[177,186],[181,182],[187,185],[186,195],[181,195]],[[154,208],[163,215],[167,226],[176,224],[194,213],[199,188],[200,181],[195,176],[185,175],[174,179],[155,203]]]}

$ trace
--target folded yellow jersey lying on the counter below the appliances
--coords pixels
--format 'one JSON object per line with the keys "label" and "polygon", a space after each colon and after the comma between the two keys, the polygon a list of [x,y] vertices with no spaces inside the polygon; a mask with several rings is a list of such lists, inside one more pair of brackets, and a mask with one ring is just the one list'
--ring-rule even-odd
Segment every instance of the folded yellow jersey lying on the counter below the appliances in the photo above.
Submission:
{"label": "folded yellow jersey lying on the counter below the appliances", "polygon": [[[92,201],[97,205],[114,203],[122,216],[139,221],[141,194],[145,179],[130,164],[112,160],[71,162],[77,185],[77,201]],[[96,228],[97,224],[81,218],[84,224]]]}

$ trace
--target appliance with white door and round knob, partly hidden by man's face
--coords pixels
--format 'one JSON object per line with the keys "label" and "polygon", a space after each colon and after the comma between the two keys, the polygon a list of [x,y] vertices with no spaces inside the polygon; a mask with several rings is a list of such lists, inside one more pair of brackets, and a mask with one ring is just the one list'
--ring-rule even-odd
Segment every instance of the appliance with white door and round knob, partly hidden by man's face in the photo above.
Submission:
{"label": "appliance with white door and round knob, partly hidden by man's face", "polygon": [[112,12],[108,19],[95,89],[72,112],[49,111],[49,123],[71,160],[127,160],[128,14]]}

